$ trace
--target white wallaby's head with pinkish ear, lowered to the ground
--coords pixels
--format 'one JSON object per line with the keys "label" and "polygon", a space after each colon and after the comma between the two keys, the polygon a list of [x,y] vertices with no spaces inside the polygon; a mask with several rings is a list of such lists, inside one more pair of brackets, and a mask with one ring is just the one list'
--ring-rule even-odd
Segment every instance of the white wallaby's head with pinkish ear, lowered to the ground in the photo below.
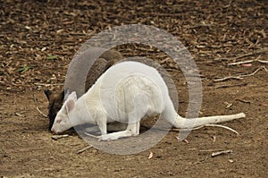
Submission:
{"label": "white wallaby's head with pinkish ear, lowered to the ground", "polygon": [[75,112],[75,103],[77,101],[77,95],[75,92],[71,92],[67,99],[63,103],[63,107],[59,110],[54,118],[51,131],[55,134],[61,133],[71,129],[71,122],[68,114]]}

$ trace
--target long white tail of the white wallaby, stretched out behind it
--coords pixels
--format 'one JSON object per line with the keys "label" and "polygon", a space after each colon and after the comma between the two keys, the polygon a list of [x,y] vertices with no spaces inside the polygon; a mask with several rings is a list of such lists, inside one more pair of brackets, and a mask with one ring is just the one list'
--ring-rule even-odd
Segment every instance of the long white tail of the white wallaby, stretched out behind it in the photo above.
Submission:
{"label": "long white tail of the white wallaby, stretched out behind it", "polygon": [[204,126],[205,124],[224,123],[234,119],[246,117],[246,114],[239,113],[186,119],[176,113],[172,105],[172,101],[168,102],[168,105],[165,106],[162,115],[166,121],[178,129],[195,129],[200,126]]}

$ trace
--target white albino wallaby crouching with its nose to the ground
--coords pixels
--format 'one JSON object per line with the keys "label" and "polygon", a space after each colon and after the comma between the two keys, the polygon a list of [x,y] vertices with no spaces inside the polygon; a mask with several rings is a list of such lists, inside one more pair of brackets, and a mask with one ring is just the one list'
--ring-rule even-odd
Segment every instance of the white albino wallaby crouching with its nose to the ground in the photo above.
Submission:
{"label": "white albino wallaby crouching with its nose to the ground", "polygon": [[[79,124],[92,123],[97,124],[101,131],[100,140],[117,140],[138,135],[140,120],[158,114],[180,129],[246,116],[240,113],[183,118],[175,111],[159,72],[146,64],[129,61],[109,68],[79,99],[75,92],[71,92],[56,115],[51,131],[61,133]],[[127,123],[126,130],[107,133],[107,123],[115,121]]]}

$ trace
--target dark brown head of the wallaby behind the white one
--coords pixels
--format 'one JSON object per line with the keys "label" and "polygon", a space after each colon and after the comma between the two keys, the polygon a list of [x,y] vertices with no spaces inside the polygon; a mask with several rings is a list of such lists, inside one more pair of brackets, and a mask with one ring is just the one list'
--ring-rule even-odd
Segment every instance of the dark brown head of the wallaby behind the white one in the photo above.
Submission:
{"label": "dark brown head of the wallaby behind the white one", "polygon": [[51,130],[53,123],[54,123],[54,118],[58,111],[61,109],[63,106],[63,99],[64,99],[64,90],[61,93],[53,93],[51,90],[46,89],[45,90],[46,97],[48,99],[48,118],[49,118],[49,126],[48,129],[49,131]]}

